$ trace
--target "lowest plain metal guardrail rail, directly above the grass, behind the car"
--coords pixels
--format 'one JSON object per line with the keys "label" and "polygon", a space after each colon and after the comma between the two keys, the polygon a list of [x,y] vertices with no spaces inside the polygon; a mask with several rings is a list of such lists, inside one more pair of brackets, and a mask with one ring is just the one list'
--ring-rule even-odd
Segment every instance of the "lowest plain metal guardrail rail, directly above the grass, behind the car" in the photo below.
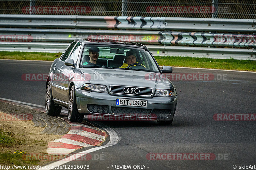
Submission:
{"label": "lowest plain metal guardrail rail, directly above the grass, behind the car", "polygon": [[[69,43],[54,42],[0,42],[0,51],[64,52]],[[146,45],[155,56],[190,56],[238,60],[256,60],[256,50],[240,48],[206,48]]]}

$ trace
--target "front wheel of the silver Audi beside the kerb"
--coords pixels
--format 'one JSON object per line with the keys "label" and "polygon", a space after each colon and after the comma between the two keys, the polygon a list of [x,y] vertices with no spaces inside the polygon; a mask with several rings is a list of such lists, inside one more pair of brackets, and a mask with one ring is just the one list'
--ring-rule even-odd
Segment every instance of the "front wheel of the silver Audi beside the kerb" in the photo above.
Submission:
{"label": "front wheel of the silver Audi beside the kerb", "polygon": [[80,114],[77,110],[74,85],[72,85],[68,97],[68,120],[70,122],[82,122],[84,120],[84,115]]}

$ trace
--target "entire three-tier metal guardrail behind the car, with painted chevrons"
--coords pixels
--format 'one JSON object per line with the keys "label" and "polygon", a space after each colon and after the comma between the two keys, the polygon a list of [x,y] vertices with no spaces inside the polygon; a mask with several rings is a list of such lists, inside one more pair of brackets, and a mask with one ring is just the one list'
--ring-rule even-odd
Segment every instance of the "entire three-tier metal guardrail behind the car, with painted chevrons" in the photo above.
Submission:
{"label": "entire three-tier metal guardrail behind the car, with painted chevrons", "polygon": [[[62,52],[69,44],[65,42],[71,42],[77,38],[91,38],[147,44],[154,55],[160,56],[232,57],[234,59],[256,60],[254,50],[256,47],[255,19],[0,15],[0,26],[2,26],[0,28],[0,51]],[[105,30],[95,30],[97,28]],[[177,32],[171,30],[225,31],[230,33]],[[244,34],[237,32],[244,32]],[[164,46],[159,46],[160,44]],[[172,45],[246,47],[251,49]]]}

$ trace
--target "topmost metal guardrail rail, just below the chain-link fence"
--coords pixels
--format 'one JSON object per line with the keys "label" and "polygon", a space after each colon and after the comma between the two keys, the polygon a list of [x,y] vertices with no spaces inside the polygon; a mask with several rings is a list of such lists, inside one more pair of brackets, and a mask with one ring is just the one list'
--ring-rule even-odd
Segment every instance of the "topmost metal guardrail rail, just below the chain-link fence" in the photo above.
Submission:
{"label": "topmost metal guardrail rail, just below the chain-link fence", "polygon": [[1,14],[0,26],[255,33],[256,19]]}

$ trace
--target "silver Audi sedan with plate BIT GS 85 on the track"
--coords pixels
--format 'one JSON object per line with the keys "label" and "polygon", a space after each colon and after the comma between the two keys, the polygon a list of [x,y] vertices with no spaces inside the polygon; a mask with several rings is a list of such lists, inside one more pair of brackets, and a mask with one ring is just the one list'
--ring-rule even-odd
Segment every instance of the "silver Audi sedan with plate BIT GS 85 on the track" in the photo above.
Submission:
{"label": "silver Audi sedan with plate BIT GS 85 on the track", "polygon": [[177,93],[166,73],[172,67],[161,70],[144,45],[78,39],[51,65],[45,111],[57,116],[66,107],[70,122],[107,115],[171,124]]}

